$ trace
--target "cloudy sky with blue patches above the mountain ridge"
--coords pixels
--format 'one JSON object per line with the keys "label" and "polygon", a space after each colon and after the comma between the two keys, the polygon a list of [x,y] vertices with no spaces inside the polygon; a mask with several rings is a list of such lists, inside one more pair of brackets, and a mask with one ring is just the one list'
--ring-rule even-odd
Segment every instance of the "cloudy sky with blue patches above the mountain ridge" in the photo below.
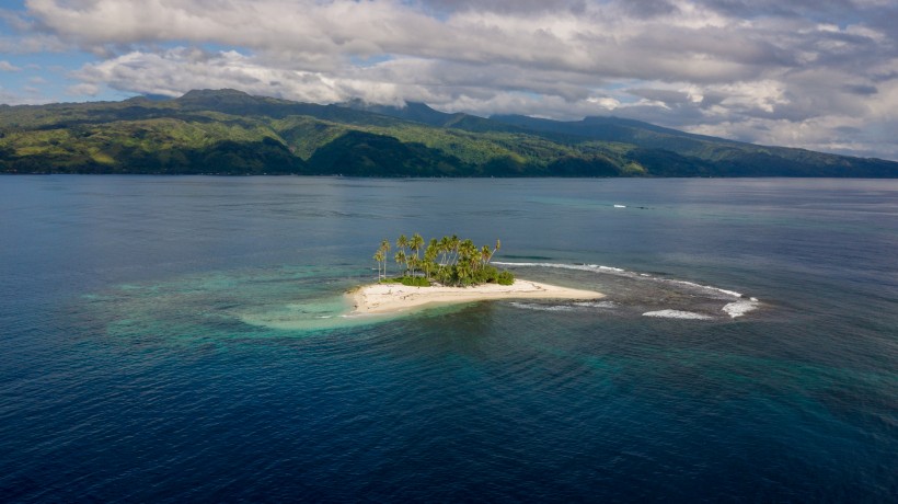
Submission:
{"label": "cloudy sky with blue patches above the mountain ridge", "polygon": [[0,103],[221,88],[898,160],[898,0],[0,3]]}

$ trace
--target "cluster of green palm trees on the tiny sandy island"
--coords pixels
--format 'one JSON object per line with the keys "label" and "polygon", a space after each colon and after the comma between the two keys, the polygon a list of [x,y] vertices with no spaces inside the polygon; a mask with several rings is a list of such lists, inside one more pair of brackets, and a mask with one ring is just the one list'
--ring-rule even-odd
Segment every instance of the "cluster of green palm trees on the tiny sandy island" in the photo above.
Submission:
{"label": "cluster of green palm trees on the tiny sandy island", "polygon": [[[457,286],[488,282],[506,285],[514,283],[510,273],[498,272],[490,265],[493,254],[502,248],[499,240],[496,240],[496,245],[492,249],[488,245],[477,248],[472,240],[461,240],[452,234],[439,240],[434,238],[425,248],[424,238],[414,233],[412,238],[400,236],[395,247],[393,259],[400,268],[400,279],[408,285],[430,285],[431,282]],[[389,252],[390,241],[381,241],[375,253],[378,280],[387,278]]]}

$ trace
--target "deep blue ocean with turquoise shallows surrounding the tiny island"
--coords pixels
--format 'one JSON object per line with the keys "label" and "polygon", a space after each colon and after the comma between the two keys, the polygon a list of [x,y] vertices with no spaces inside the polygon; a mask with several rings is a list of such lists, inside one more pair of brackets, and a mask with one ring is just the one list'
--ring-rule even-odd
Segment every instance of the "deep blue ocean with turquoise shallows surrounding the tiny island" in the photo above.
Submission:
{"label": "deep blue ocean with turquoise shallows surrounding the tiny island", "polygon": [[[343,317],[380,240],[594,302]],[[895,502],[898,181],[0,177],[2,502]]]}

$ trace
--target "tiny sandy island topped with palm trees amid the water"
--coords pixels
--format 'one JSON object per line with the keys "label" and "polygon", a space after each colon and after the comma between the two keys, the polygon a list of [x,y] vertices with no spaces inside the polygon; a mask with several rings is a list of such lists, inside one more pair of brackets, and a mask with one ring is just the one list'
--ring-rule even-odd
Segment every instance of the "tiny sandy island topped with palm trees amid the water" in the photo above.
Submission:
{"label": "tiny sandy island topped with palm trees amid the water", "polygon": [[[595,290],[582,290],[537,282],[516,279],[511,272],[490,264],[502,248],[477,248],[471,240],[457,236],[424,239],[414,233],[411,239],[399,237],[393,256],[398,276],[388,274],[391,243],[383,240],[375,253],[378,265],[376,284],[347,293],[353,314],[377,314],[404,311],[437,303],[459,303],[495,299],[566,299],[590,300],[605,297]],[[423,252],[423,254],[422,254]]]}

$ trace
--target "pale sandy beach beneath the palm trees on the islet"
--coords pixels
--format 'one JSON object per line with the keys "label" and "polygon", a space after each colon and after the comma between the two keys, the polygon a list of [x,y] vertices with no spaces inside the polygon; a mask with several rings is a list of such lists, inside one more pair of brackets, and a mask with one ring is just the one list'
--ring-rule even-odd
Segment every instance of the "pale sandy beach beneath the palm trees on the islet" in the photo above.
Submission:
{"label": "pale sandy beach beneath the palm trees on the islet", "polygon": [[408,287],[402,284],[372,284],[347,293],[355,307],[352,314],[393,313],[426,305],[483,301],[492,299],[599,299],[603,294],[537,282],[515,280],[514,285],[483,284],[475,287]]}

